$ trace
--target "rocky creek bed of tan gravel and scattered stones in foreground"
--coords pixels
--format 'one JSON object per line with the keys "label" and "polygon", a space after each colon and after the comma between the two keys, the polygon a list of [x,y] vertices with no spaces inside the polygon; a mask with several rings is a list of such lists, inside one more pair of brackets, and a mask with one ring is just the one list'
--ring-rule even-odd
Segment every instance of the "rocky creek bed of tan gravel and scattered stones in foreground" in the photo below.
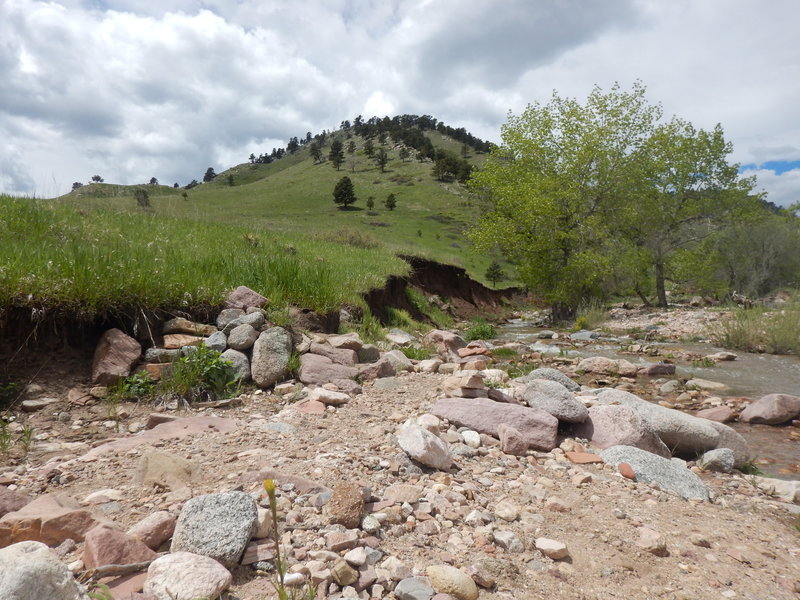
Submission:
{"label": "rocky creek bed of tan gravel and scattered stones in foreground", "polygon": [[[85,598],[67,579],[102,575],[112,561],[150,565],[104,579],[115,598],[273,598],[262,485],[271,478],[290,571],[323,597],[798,597],[796,482],[779,489],[669,460],[663,439],[672,438],[655,432],[663,415],[684,423],[674,407],[739,413],[749,399],[662,391],[667,377],[636,367],[585,371],[578,358],[511,343],[513,360],[559,374],[515,384],[489,364],[488,344],[448,346],[449,335],[429,334],[438,360],[395,362],[387,346],[378,360],[392,372],[352,367],[370,376],[347,392],[289,381],[188,411],[126,403],[110,419],[89,393],[86,365],[34,388],[53,400],[20,415],[37,439],[26,455],[0,459],[0,595],[42,598],[48,573],[62,579],[46,597]],[[308,341],[325,347],[318,352],[341,343]],[[639,397],[668,411],[626,438],[651,451],[619,439],[604,450],[600,419],[591,433],[570,424],[603,412],[641,424]],[[730,440],[716,445],[735,447],[732,461],[746,456],[727,429],[714,430]],[[40,563],[47,568],[24,588]]]}

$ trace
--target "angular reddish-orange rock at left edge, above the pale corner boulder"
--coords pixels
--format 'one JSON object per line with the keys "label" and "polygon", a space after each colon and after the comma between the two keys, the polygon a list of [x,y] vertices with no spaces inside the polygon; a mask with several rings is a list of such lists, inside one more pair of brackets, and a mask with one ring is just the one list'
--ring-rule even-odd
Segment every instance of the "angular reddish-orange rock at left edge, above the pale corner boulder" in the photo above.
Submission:
{"label": "angular reddish-orange rock at left edge, above the pale corner boulder", "polygon": [[99,523],[74,498],[45,494],[0,518],[0,548],[28,540],[48,546],[57,546],[68,538],[80,542]]}

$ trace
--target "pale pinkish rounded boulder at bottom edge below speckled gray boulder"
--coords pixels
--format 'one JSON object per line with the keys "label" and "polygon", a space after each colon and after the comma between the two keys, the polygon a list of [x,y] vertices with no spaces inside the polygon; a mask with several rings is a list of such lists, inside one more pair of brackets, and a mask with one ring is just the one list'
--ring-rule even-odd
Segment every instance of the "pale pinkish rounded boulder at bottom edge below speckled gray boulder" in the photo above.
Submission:
{"label": "pale pinkish rounded boulder at bottom edge below speckled gray boulder", "polygon": [[207,556],[173,552],[150,563],[144,592],[155,600],[218,598],[232,580],[225,567]]}

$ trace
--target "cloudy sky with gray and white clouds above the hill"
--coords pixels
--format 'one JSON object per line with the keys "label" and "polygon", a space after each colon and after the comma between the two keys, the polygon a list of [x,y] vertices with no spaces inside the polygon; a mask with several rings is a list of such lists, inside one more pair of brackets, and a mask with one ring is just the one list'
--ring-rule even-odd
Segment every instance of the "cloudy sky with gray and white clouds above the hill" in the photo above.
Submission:
{"label": "cloudy sky with gray and white clouds above the hill", "polygon": [[800,202],[797,0],[0,0],[0,192],[186,185],[361,114],[493,142],[553,91],[630,89]]}

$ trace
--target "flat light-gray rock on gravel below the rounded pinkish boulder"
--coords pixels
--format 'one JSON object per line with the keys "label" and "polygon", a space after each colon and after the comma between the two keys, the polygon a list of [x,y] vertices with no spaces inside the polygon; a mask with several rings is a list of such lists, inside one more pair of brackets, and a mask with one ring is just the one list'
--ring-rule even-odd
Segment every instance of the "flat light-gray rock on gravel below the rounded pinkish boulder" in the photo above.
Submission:
{"label": "flat light-gray rock on gravel below the rounded pinkish boulder", "polygon": [[708,488],[701,479],[686,468],[683,461],[663,458],[633,446],[612,446],[600,453],[603,460],[618,467],[630,465],[636,480],[657,483],[687,500],[708,500]]}

